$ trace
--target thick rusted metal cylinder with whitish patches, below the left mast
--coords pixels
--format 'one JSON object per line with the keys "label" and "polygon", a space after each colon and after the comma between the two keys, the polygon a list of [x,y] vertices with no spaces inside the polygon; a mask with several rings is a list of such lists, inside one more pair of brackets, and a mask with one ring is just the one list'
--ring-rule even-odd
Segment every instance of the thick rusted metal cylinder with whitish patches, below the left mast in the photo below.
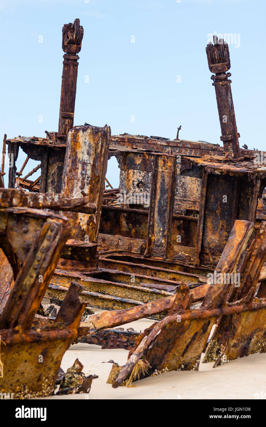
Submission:
{"label": "thick rusted metal cylinder with whitish patches, below the left mast", "polygon": [[100,225],[104,178],[107,170],[110,127],[75,126],[67,135],[62,193],[65,197],[88,197],[96,212],[66,213],[72,226],[72,238],[97,242]]}

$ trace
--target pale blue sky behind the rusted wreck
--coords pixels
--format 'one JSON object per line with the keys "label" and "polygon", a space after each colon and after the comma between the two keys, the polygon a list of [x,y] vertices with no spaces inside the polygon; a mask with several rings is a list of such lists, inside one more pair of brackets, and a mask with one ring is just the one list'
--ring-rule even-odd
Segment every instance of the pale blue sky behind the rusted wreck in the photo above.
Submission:
{"label": "pale blue sky behind the rusted wreck", "polygon": [[[229,44],[240,146],[266,151],[265,3],[1,0],[1,136],[43,137],[45,130],[58,130],[62,26],[80,18],[75,125],[107,123],[113,135],[173,139],[181,124],[182,139],[222,144],[205,47],[208,34],[233,33],[240,44]],[[115,169],[107,178],[118,184]]]}

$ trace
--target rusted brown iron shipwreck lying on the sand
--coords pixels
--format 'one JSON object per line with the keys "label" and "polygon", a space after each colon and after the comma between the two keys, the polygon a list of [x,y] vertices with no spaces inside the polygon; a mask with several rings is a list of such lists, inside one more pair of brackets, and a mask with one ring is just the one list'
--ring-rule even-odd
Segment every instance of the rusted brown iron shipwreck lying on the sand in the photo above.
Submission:
{"label": "rusted brown iron shipwreck lying on the sand", "polygon": [[[74,126],[83,35],[78,19],[63,27],[58,131],[3,141],[0,392],[16,398],[51,395],[73,342],[129,350],[114,388],[197,370],[202,353],[218,366],[266,350],[266,153],[240,148],[228,45],[206,48],[220,146],[179,139],[181,126],[173,140]],[[112,156],[119,188],[105,176]],[[29,159],[38,165],[23,176]],[[86,307],[105,311],[85,317]],[[154,323],[143,333],[117,329],[144,317]]]}

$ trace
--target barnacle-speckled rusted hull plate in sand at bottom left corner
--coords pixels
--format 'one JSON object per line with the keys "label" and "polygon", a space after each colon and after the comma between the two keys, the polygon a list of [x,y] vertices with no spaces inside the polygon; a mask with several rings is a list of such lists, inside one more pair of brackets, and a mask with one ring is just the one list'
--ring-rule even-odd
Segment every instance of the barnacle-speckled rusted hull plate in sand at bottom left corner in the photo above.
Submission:
{"label": "barnacle-speckled rusted hull plate in sand at bottom left corner", "polygon": [[[76,336],[73,329],[0,330],[4,375],[0,392],[12,392],[15,399],[52,395],[64,352]],[[43,363],[39,356],[43,356]]]}

